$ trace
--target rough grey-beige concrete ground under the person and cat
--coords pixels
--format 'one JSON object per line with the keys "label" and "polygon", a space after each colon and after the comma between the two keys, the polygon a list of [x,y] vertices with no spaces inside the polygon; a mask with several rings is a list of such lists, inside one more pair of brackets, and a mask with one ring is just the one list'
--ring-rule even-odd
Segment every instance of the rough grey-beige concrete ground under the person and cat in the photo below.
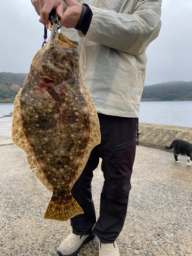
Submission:
{"label": "rough grey-beige concrete ground under the person and cat", "polygon": [[[44,220],[51,193],[31,173],[26,154],[3,145],[12,143],[11,119],[0,119],[0,255],[56,256],[71,232],[70,221]],[[173,153],[137,147],[129,207],[117,239],[120,256],[192,254],[192,167],[186,157],[179,160]],[[102,183],[99,166],[92,183],[97,217]],[[98,255],[97,238],[78,255]]]}

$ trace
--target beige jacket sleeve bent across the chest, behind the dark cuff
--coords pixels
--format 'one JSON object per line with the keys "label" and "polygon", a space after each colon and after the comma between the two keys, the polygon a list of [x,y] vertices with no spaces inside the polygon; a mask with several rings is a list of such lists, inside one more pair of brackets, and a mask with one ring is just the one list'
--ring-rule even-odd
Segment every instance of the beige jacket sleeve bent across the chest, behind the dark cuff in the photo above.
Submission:
{"label": "beige jacket sleeve bent across the chest, behind the dark cuff", "polygon": [[132,14],[126,14],[126,4],[125,13],[90,6],[93,17],[85,38],[125,53],[141,54],[159,34],[161,4],[162,0],[138,0]]}

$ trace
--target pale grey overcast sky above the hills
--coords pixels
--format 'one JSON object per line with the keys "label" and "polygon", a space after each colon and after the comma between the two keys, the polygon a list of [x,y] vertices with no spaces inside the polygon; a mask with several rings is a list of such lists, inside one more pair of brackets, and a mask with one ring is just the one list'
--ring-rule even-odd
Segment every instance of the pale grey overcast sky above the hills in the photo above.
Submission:
{"label": "pale grey overcast sky above the hills", "polygon": [[[0,0],[0,72],[28,73],[44,26],[30,0]],[[148,47],[145,84],[192,81],[192,1],[163,0],[162,28]]]}

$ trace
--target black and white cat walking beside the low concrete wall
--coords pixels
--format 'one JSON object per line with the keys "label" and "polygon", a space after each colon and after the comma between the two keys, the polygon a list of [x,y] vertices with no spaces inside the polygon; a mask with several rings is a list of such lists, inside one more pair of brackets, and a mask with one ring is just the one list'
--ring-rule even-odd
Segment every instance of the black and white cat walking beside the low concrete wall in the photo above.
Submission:
{"label": "black and white cat walking beside the low concrete wall", "polygon": [[176,163],[179,163],[178,155],[184,155],[188,158],[187,165],[192,163],[192,144],[184,140],[173,140],[172,144],[168,147],[165,146],[167,150],[174,148],[174,157]]}

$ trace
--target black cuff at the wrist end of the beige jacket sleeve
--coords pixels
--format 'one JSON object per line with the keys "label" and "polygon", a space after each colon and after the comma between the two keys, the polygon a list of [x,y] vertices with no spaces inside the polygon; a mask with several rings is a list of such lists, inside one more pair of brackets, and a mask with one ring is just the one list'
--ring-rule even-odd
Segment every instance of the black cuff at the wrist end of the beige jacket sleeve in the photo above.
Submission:
{"label": "black cuff at the wrist end of the beige jacket sleeve", "polygon": [[75,29],[81,31],[84,35],[86,35],[89,30],[92,17],[93,13],[90,7],[86,4],[82,4],[81,15],[77,25],[75,26]]}

